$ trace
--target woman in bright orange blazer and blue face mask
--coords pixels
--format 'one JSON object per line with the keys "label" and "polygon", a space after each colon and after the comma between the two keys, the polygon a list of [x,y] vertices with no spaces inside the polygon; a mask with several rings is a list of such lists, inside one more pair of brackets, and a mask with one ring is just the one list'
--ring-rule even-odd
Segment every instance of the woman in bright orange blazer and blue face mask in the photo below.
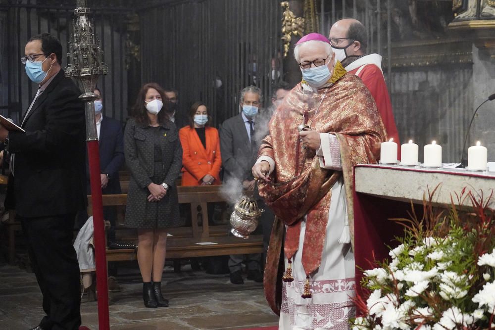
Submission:
{"label": "woman in bright orange blazer and blue face mask", "polygon": [[182,186],[220,185],[220,139],[208,125],[208,109],[196,102],[189,111],[189,126],[179,131],[182,149]]}

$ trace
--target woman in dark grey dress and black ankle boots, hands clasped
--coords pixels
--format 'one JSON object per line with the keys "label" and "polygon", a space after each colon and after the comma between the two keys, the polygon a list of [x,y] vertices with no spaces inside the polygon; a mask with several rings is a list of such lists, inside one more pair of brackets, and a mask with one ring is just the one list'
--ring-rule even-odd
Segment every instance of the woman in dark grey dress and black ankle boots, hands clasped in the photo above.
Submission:
{"label": "woman in dark grey dress and black ankle boots, hands clasped", "polygon": [[124,133],[124,153],[131,171],[125,225],[138,230],[138,264],[145,306],[168,306],[161,294],[167,228],[184,224],[179,217],[175,181],[182,167],[182,147],[175,124],[163,107],[162,88],[141,88]]}

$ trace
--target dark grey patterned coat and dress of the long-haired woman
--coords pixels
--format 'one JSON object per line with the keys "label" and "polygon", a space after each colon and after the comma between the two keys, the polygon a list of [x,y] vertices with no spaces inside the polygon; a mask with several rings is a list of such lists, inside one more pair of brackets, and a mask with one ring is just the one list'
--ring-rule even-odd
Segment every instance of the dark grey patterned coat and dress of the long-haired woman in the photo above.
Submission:
{"label": "dark grey patterned coat and dress of the long-haired woman", "polygon": [[[124,132],[124,153],[131,171],[124,224],[139,229],[184,226],[175,186],[182,167],[182,147],[175,124],[167,121],[150,127],[129,119]],[[148,185],[162,182],[169,187],[165,197],[148,202]]]}

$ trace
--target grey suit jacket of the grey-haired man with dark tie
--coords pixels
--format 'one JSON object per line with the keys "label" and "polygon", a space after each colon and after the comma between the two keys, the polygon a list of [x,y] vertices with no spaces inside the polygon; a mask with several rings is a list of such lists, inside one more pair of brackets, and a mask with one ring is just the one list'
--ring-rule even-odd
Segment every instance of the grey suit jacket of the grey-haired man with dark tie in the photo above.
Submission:
{"label": "grey suit jacket of the grey-haired man with dark tie", "polygon": [[220,152],[224,182],[236,178],[241,182],[253,180],[251,168],[256,162],[258,145],[251,145],[241,114],[223,122],[220,130]]}

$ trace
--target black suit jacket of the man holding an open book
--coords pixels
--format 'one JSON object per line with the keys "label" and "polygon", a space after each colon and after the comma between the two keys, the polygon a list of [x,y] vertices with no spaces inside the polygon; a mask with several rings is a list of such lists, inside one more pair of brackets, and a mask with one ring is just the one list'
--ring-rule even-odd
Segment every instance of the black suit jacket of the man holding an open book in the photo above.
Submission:
{"label": "black suit jacket of the man holding an open book", "polygon": [[85,116],[81,92],[60,70],[38,97],[22,128],[10,132],[14,175],[5,206],[22,217],[76,213],[86,205]]}

